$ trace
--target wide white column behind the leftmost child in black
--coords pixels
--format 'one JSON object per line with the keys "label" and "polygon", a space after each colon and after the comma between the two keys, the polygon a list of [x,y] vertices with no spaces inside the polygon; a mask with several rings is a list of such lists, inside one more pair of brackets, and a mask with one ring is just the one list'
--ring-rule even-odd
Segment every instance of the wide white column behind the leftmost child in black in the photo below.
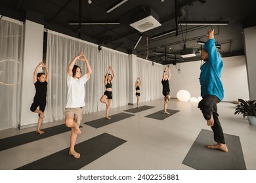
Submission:
{"label": "wide white column behind the leftmost child in black", "polygon": [[[33,71],[43,59],[43,25],[26,20],[24,26],[24,60],[22,65],[22,95],[20,128],[36,125],[38,115],[30,111],[35,95]],[[41,68],[39,68],[41,69]],[[39,72],[41,72],[39,70]]]}

